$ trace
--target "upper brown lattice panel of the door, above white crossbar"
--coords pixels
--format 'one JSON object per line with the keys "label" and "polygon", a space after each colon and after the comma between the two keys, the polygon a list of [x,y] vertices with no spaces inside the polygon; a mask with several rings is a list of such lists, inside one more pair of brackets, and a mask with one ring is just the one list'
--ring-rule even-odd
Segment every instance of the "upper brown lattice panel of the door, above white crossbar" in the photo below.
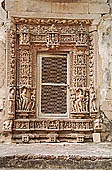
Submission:
{"label": "upper brown lattice panel of the door, above white crossbar", "polygon": [[42,58],[42,83],[67,84],[67,58]]}

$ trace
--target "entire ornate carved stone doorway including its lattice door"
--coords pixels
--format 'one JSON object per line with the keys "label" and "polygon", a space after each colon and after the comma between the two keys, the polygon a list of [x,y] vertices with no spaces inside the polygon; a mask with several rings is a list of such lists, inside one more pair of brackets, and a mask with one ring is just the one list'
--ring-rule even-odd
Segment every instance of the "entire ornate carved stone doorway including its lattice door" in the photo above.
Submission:
{"label": "entire ornate carved stone doorway including its lattice door", "polygon": [[91,24],[91,20],[12,19],[5,131],[14,142],[93,141],[100,127]]}

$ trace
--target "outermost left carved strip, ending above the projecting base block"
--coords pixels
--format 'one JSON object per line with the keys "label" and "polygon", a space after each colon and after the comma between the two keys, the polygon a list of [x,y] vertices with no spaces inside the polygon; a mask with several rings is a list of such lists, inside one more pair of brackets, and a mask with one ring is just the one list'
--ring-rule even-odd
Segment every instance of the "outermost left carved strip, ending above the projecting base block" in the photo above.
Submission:
{"label": "outermost left carved strip, ending above the projecting base block", "polygon": [[8,86],[8,117],[15,117],[16,94],[16,25],[11,23],[7,30],[7,86]]}

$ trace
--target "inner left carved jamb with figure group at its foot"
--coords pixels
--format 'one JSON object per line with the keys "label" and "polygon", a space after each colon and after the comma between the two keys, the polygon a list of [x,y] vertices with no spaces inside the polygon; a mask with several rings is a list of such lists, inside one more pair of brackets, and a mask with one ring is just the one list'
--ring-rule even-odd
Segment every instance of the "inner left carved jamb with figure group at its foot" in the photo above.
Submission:
{"label": "inner left carved jamb with figure group at its foot", "polygon": [[[18,27],[18,26],[17,26]],[[16,92],[16,117],[35,117],[36,88],[34,61],[28,26],[19,26],[18,81]]]}

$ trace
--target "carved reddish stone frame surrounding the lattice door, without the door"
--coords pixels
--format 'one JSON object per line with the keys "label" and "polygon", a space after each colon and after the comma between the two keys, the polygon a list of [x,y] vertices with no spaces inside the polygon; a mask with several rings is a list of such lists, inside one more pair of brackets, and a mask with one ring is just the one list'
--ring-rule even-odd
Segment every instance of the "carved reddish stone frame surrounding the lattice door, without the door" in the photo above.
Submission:
{"label": "carved reddish stone frame surrounding the lattice door, without the door", "polygon": [[[30,130],[45,131],[47,132],[48,140],[51,138],[56,142],[57,136],[63,136],[58,132],[69,131],[68,138],[76,139],[78,142],[83,142],[85,138],[92,138],[92,133],[100,129],[96,127],[94,122],[97,117],[97,94],[96,94],[96,61],[97,56],[95,53],[95,37],[94,32],[90,31],[92,27],[92,20],[75,20],[75,19],[31,19],[31,18],[12,18],[10,25],[7,29],[7,87],[8,87],[8,120],[4,123],[4,131],[14,134],[20,130],[20,134],[25,130],[27,133]],[[35,98],[36,91],[36,56],[37,52],[69,52],[70,63],[70,117],[65,120],[40,120],[36,118],[36,104],[34,103],[33,110],[28,110],[25,106],[25,114],[22,109],[17,109],[17,91],[25,94],[33,95]],[[78,55],[86,56],[88,60],[86,84],[82,87],[77,85],[77,76],[74,74],[75,66],[74,60]],[[21,65],[21,56],[28,58],[27,67],[28,75],[26,79],[19,74],[23,68]],[[18,66],[18,63],[20,64]],[[18,73],[19,72],[19,73]],[[18,80],[19,79],[19,80]],[[76,81],[77,79],[77,81]],[[82,81],[82,80],[81,80]],[[19,84],[18,84],[19,82]],[[84,83],[85,83],[84,82]],[[19,92],[19,93],[20,93]],[[81,93],[87,95],[87,108],[86,114],[79,114],[75,110],[74,94]],[[30,97],[32,97],[30,95]],[[36,98],[30,102],[36,102]],[[79,112],[82,112],[79,110]],[[21,113],[21,114],[20,114]],[[23,114],[22,114],[23,113]],[[38,125],[37,125],[38,124]],[[40,124],[40,125],[39,125]],[[37,125],[37,126],[36,126]],[[78,132],[72,134],[72,132]],[[86,132],[88,132],[86,134]],[[71,135],[72,134],[72,135]],[[71,137],[70,137],[71,135]],[[30,135],[27,137],[22,135],[23,142],[30,141]],[[39,137],[37,137],[39,138]]]}

